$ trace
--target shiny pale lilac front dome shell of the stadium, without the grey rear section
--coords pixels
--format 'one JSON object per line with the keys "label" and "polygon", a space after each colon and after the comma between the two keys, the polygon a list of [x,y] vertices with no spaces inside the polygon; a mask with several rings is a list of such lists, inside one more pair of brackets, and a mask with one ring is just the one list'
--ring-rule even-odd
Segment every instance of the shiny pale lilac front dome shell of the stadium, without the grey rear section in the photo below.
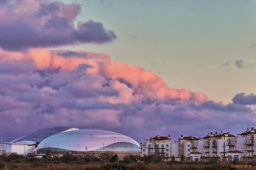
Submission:
{"label": "shiny pale lilac front dome shell of the stadium, without the grey rear section", "polygon": [[72,130],[42,140],[36,150],[52,148],[67,151],[138,151],[139,143],[131,137],[104,130]]}

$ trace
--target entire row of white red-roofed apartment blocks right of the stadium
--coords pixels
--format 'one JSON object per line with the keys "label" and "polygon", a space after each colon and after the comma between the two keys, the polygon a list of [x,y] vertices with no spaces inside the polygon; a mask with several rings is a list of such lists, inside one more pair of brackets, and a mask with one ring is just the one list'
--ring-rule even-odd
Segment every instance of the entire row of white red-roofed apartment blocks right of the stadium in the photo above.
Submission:
{"label": "entire row of white red-roofed apartment blocks right of the stadium", "polygon": [[[204,137],[181,135],[178,142],[173,144],[171,144],[172,139],[170,137],[158,135],[141,142],[141,156],[151,154],[165,157],[175,156],[178,160],[185,159],[190,161],[209,158],[228,161],[234,159],[250,160],[253,155],[256,155],[254,137],[256,137],[256,130],[253,127],[247,128],[245,132],[238,135],[223,131],[220,133],[208,132]],[[166,148],[167,143],[170,147],[168,149]],[[161,150],[159,150],[160,148]]]}

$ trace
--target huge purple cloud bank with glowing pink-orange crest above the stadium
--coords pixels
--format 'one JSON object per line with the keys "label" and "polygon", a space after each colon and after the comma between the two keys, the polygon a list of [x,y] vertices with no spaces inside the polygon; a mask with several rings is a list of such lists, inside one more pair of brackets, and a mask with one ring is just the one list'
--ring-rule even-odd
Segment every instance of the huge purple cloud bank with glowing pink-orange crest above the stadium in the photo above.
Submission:
{"label": "huge purple cloud bank with glowing pink-orange crest above the stadium", "polygon": [[256,123],[245,97],[217,103],[202,92],[170,88],[152,71],[106,54],[0,51],[0,136],[6,140],[53,126],[113,130],[138,140],[227,127],[242,131]]}

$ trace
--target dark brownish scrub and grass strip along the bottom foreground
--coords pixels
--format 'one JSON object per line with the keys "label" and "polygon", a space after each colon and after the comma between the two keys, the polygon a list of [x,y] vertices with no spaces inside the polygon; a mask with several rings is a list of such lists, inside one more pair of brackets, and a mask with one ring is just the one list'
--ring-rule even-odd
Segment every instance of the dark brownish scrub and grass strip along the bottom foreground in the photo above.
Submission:
{"label": "dark brownish scrub and grass strip along the bottom foreground", "polygon": [[[144,163],[137,163],[140,159]],[[242,164],[242,162],[178,162],[169,161],[163,162],[161,159],[156,157],[137,157],[137,156],[126,156],[122,160],[118,160],[116,155],[103,154],[95,157],[91,155],[87,156],[74,156],[64,155],[63,157],[44,157],[41,159],[35,159],[33,156],[20,156],[16,154],[2,155],[0,156],[0,169],[1,170],[229,170],[238,169],[231,167],[233,164]],[[243,162],[245,164],[245,162]],[[242,169],[253,169],[254,167],[242,168]]]}

